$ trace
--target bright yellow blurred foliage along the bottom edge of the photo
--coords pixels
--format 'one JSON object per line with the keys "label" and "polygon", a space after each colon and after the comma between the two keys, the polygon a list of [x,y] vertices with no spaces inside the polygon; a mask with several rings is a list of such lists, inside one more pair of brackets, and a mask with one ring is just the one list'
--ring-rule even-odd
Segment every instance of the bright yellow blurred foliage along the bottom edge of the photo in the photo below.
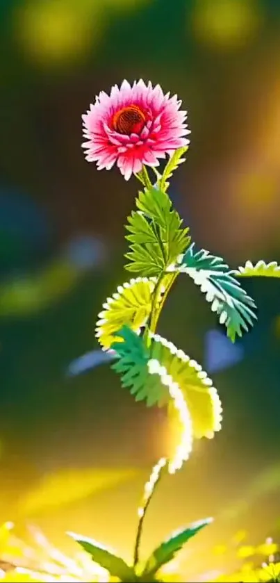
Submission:
{"label": "bright yellow blurred foliage along the bottom edge of the photo", "polygon": [[[31,535],[31,538],[30,538]],[[197,573],[192,577],[197,581],[212,581],[213,583],[261,583],[279,582],[280,580],[280,545],[272,539],[267,539],[261,545],[252,546],[252,555],[246,557],[244,541],[248,533],[237,532],[228,544],[215,546],[213,555],[219,570],[219,557],[223,557],[224,565],[220,575],[212,578],[211,572]],[[5,523],[0,528],[0,574],[3,582],[117,582],[117,577],[110,577],[106,569],[99,567],[92,560],[87,551],[75,551],[65,555],[54,547],[37,527],[28,527],[25,539],[17,536],[13,523]],[[88,539],[90,541],[90,539]],[[273,550],[273,553],[271,552]],[[236,572],[227,570],[227,561],[231,554],[236,554],[240,567]],[[249,560],[248,560],[249,559]],[[191,560],[191,559],[190,559]],[[160,569],[160,581],[180,582],[190,580],[184,575],[179,560],[172,560],[170,564]],[[151,581],[151,576],[149,578]]]}

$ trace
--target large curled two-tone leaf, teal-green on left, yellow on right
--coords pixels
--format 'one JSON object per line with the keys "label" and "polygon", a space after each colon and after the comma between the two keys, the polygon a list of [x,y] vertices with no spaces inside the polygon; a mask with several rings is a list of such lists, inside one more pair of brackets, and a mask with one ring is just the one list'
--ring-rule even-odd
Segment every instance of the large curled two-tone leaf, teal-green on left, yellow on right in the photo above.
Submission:
{"label": "large curled two-tone leaf, teal-green on left, yellow on right", "polygon": [[178,350],[174,344],[167,342],[158,334],[150,334],[149,348],[143,338],[138,337],[129,328],[124,327],[117,332],[124,342],[113,343],[112,348],[119,359],[113,364],[113,369],[121,375],[122,386],[129,388],[136,400],[145,400],[147,406],[169,404],[170,415],[177,412],[172,408],[173,401],[167,386],[158,375],[151,375],[148,363],[151,359],[163,366],[167,375],[177,383],[186,400],[192,432],[195,438],[212,437],[221,427],[222,407],[216,389],[197,364],[183,350]]}

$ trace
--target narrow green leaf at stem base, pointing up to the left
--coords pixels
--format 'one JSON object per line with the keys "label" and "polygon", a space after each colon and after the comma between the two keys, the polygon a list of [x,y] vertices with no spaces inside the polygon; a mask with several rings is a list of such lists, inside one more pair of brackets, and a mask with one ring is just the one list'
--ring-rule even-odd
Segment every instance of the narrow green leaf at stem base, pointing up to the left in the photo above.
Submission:
{"label": "narrow green leaf at stem base, pointing up to the left", "polygon": [[112,577],[119,577],[121,580],[131,582],[135,580],[134,569],[127,565],[124,559],[110,552],[104,545],[75,532],[67,532],[67,534],[91,555],[94,563],[98,563],[108,570]]}

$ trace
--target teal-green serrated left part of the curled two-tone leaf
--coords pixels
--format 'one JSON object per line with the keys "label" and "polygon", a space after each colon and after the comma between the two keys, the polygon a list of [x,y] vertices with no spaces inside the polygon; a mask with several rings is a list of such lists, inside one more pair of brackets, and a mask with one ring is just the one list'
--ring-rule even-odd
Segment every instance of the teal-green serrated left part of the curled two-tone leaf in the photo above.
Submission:
{"label": "teal-green serrated left part of the curled two-tone leaf", "polygon": [[121,375],[122,386],[129,388],[136,401],[147,400],[148,407],[166,398],[168,391],[160,377],[149,373],[150,351],[145,340],[127,326],[115,336],[122,341],[111,345],[119,357],[112,368]]}

